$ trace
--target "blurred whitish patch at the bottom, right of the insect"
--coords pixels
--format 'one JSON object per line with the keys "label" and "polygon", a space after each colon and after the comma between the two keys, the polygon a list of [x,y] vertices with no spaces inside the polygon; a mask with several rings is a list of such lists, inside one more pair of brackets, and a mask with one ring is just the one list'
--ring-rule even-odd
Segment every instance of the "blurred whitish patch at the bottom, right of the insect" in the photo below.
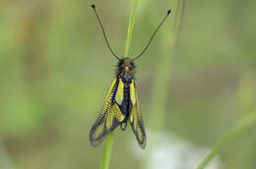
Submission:
{"label": "blurred whitish patch at the bottom, right of the insect", "polygon": [[[209,147],[197,146],[185,141],[175,134],[150,132],[146,150],[134,147],[131,149],[137,158],[145,160],[147,169],[191,169],[194,168],[210,151]],[[222,169],[220,157],[216,157],[206,169]]]}

